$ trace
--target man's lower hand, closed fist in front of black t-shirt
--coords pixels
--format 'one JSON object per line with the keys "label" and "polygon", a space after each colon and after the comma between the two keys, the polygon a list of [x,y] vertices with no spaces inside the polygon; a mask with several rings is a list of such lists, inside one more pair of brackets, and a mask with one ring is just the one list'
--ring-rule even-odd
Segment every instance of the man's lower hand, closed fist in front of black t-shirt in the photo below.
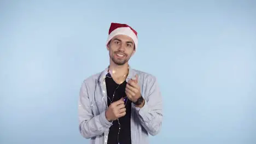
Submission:
{"label": "man's lower hand, closed fist in front of black t-shirt", "polygon": [[119,99],[118,101],[113,102],[109,105],[105,115],[107,120],[115,121],[119,117],[123,117],[126,114],[126,108],[124,104],[124,98]]}

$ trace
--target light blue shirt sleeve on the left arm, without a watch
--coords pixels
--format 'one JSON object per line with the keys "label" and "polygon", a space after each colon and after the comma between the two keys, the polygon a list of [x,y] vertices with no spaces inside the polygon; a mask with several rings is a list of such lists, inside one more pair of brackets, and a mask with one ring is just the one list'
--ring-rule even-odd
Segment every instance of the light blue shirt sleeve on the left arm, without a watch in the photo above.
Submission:
{"label": "light blue shirt sleeve on the left arm, without a watch", "polygon": [[100,115],[93,116],[91,104],[88,97],[86,83],[80,88],[78,100],[79,132],[86,139],[103,134],[108,131],[112,123],[108,122],[105,111]]}

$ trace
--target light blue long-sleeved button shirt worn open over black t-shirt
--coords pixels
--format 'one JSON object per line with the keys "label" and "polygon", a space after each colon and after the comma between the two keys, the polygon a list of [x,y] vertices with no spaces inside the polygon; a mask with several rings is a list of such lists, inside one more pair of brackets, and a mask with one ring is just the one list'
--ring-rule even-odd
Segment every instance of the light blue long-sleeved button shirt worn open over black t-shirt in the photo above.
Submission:
{"label": "light blue long-sleeved button shirt worn open over black t-shirt", "polygon": [[[90,143],[106,144],[112,123],[107,121],[105,111],[107,105],[106,68],[101,73],[85,79],[80,88],[78,100],[79,132]],[[162,97],[156,77],[143,71],[129,67],[128,82],[138,75],[145,104],[142,108],[132,104],[131,109],[131,141],[132,144],[149,143],[150,135],[159,133],[162,125]]]}

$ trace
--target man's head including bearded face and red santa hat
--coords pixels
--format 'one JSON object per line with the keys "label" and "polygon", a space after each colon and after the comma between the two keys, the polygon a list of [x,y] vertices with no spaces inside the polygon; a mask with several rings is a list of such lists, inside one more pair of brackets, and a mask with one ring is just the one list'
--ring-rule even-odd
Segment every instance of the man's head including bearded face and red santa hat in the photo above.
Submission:
{"label": "man's head including bearded face and red santa hat", "polygon": [[110,59],[117,65],[129,61],[137,49],[137,32],[126,24],[111,23],[107,40]]}

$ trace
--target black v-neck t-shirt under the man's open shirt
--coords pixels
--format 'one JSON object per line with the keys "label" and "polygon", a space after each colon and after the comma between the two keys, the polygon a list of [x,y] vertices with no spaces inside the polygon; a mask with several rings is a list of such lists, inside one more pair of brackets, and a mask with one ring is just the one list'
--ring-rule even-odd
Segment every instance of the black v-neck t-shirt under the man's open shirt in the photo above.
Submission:
{"label": "black v-neck t-shirt under the man's open shirt", "polygon": [[[108,73],[106,76],[106,87],[107,87],[107,95],[108,95],[108,106],[110,105],[110,100],[114,98],[113,101],[117,101],[122,97],[126,97],[125,94],[125,87],[126,81],[118,85],[112,78],[111,75]],[[110,99],[110,100],[109,100]],[[109,128],[108,134],[108,143],[109,144],[131,144],[131,101],[127,100],[126,103],[126,115],[124,117],[119,118],[113,121],[113,125]],[[119,126],[120,123],[120,126]],[[120,127],[120,131],[119,131]],[[118,134],[119,131],[119,134]],[[119,135],[119,137],[118,137]],[[118,141],[119,140],[119,141]]]}

